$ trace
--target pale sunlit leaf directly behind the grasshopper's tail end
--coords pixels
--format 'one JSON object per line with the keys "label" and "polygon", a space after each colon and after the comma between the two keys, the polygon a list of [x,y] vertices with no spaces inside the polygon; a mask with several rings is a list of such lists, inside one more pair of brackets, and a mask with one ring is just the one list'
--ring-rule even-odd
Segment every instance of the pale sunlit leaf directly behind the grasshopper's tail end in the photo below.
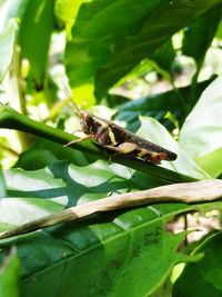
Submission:
{"label": "pale sunlit leaf directly behind the grasshopper's tail end", "polygon": [[141,128],[138,135],[178,155],[175,161],[165,161],[161,167],[188,175],[196,179],[210,178],[176,142],[168,130],[153,118],[141,117]]}

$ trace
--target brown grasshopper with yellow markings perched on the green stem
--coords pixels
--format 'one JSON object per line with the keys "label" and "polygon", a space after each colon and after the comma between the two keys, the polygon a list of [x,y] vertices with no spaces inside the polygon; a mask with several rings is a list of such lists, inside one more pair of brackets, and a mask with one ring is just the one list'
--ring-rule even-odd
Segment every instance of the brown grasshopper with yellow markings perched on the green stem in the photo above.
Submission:
{"label": "brown grasshopper with yellow markings perched on the green stem", "polygon": [[122,127],[89,111],[81,111],[67,88],[65,92],[69,95],[68,98],[80,117],[81,130],[85,133],[85,137],[72,140],[65,147],[91,138],[101,147],[113,152],[110,160],[117,155],[142,159],[154,165],[161,164],[162,160],[173,161],[176,159],[178,156],[174,152],[131,133]]}

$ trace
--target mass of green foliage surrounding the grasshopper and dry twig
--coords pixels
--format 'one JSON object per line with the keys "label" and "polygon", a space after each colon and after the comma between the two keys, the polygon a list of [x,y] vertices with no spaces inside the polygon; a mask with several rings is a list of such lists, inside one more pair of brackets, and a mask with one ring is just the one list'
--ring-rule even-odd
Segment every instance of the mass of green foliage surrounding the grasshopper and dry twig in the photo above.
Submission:
{"label": "mass of green foliage surrounding the grasshopper and dry twig", "polygon": [[[222,76],[199,80],[212,40],[220,51],[221,9],[221,0],[0,4],[0,99],[12,90],[8,103],[20,111],[0,106],[0,128],[26,132],[19,133],[22,151],[13,168],[0,174],[0,231],[115,192],[222,177]],[[181,55],[195,65],[188,86],[178,85]],[[153,72],[157,86],[162,80],[171,89],[135,100],[122,96],[138,81],[148,86]],[[79,129],[61,95],[67,79],[78,103],[175,151],[178,159],[154,166],[114,157],[110,164],[93,141],[62,147],[75,137],[65,131]],[[8,137],[0,148],[17,152],[17,140]],[[173,296],[198,296],[198,287],[202,296],[220,296],[221,234],[183,250],[188,231],[174,235],[167,226],[175,216],[221,208],[221,201],[157,204],[2,240],[0,295],[18,296],[21,286],[22,297],[155,296],[183,261]],[[17,253],[8,256],[12,246]]]}

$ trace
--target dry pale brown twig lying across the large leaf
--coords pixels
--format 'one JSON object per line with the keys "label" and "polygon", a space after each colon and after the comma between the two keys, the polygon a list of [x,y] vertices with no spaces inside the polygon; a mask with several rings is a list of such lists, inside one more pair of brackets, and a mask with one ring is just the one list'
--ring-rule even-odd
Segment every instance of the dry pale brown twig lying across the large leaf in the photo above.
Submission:
{"label": "dry pale brown twig lying across the large leaf", "polygon": [[222,198],[222,180],[209,179],[195,182],[174,184],[150,190],[114,195],[85,202],[63,211],[32,220],[0,234],[0,239],[34,231],[57,224],[84,218],[95,212],[115,210],[157,202],[205,202]]}

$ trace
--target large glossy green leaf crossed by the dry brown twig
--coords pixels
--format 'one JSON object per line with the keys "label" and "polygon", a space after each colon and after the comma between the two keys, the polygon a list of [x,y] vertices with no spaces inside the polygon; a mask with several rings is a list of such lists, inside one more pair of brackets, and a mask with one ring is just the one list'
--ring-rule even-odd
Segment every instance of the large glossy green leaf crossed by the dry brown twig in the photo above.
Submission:
{"label": "large glossy green leaf crossed by the dry brown twig", "polygon": [[[38,171],[4,174],[8,197],[1,200],[1,230],[52,214],[108,191],[160,185],[128,168],[95,162],[88,167],[51,165]],[[95,216],[21,238],[1,241],[3,257],[11,245],[21,259],[22,297],[129,296],[152,293],[178,261],[185,234],[172,235],[164,224],[176,214],[220,208],[212,205],[162,204]],[[102,279],[102,281],[101,281]]]}

